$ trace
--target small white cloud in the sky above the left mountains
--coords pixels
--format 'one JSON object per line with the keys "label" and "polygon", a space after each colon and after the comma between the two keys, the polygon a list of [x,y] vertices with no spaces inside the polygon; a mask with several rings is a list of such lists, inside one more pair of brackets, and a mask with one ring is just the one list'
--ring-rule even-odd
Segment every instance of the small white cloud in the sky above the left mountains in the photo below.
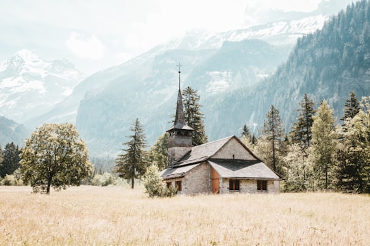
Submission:
{"label": "small white cloud in the sky above the left mountains", "polygon": [[84,36],[73,31],[65,42],[67,48],[77,57],[86,59],[101,59],[106,51],[106,46],[95,36]]}

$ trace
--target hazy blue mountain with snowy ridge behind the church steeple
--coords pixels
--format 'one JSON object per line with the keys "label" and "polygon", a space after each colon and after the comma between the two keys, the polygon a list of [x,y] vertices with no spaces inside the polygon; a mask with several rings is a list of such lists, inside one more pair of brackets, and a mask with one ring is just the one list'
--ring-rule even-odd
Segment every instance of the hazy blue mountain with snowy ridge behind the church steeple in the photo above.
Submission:
{"label": "hazy blue mountain with snowy ridge behind the church steeple", "polygon": [[275,98],[273,89],[271,95],[265,92],[264,85],[271,86],[268,78],[288,59],[297,38],[323,27],[333,2],[343,0],[323,1],[311,13],[271,12],[273,21],[248,29],[190,31],[87,77],[49,111],[27,120],[27,126],[75,122],[90,155],[96,156],[118,152],[139,118],[152,144],[170,126],[180,61],[182,87],[191,86],[201,96],[209,139],[238,135],[245,122],[263,123],[266,105]]}

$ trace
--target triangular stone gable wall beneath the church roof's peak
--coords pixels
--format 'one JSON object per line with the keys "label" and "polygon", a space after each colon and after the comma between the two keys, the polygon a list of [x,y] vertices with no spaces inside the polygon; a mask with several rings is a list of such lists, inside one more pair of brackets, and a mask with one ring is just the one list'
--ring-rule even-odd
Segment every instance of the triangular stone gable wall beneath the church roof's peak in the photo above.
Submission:
{"label": "triangular stone gable wall beneath the church roof's peak", "polygon": [[236,139],[230,139],[212,158],[256,160]]}

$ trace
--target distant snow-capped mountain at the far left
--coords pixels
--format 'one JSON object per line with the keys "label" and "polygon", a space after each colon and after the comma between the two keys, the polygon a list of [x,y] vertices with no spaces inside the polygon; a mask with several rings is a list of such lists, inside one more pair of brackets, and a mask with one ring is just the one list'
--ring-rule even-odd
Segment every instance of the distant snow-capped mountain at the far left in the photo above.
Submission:
{"label": "distant snow-capped mountain at the far left", "polygon": [[66,60],[44,61],[31,51],[18,51],[0,63],[0,111],[23,123],[49,111],[84,79]]}

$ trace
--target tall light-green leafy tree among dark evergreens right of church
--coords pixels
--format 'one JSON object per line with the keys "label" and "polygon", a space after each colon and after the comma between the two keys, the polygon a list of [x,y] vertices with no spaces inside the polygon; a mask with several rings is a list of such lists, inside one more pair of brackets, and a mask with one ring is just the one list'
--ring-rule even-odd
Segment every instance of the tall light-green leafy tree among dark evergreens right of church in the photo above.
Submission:
{"label": "tall light-green leafy tree among dark evergreens right of church", "polygon": [[310,159],[318,187],[328,189],[333,179],[332,157],[338,135],[334,128],[333,110],[325,100],[321,102],[313,119]]}

